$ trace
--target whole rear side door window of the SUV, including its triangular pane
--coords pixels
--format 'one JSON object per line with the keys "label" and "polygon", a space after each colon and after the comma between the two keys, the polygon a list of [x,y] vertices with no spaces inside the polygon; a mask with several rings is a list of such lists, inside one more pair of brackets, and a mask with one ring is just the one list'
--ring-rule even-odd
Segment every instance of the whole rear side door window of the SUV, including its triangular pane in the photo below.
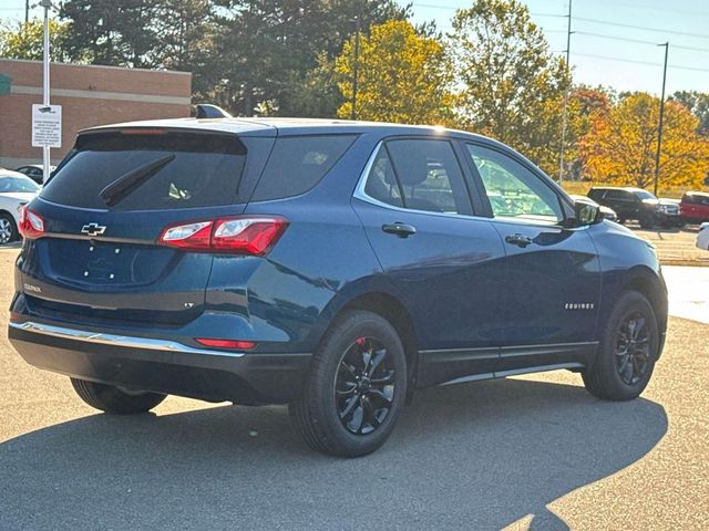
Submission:
{"label": "whole rear side door window of the SUV, including its triangular pane", "polygon": [[364,192],[379,201],[431,212],[472,214],[461,168],[448,140],[389,140]]}

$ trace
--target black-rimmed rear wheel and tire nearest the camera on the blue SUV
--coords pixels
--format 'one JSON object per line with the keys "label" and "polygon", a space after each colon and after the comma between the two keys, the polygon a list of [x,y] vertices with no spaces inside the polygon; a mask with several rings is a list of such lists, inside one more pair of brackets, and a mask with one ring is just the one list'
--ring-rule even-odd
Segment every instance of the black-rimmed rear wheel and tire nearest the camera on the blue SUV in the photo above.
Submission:
{"label": "black-rimmed rear wheel and tire nearest the camera on the blue SUV", "polygon": [[407,374],[395,329],[376,313],[347,312],[326,332],[290,416],[312,449],[366,456],[391,435],[405,402]]}

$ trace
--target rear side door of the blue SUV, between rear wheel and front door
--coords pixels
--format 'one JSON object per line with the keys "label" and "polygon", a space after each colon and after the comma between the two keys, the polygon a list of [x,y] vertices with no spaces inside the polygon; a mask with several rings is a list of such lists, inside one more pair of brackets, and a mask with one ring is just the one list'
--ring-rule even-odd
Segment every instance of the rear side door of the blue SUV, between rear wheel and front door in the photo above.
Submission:
{"label": "rear side door of the blue SUV, between rear wheel and front door", "polygon": [[353,207],[414,320],[419,383],[492,374],[504,250],[491,222],[473,217],[454,145],[421,137],[382,143]]}

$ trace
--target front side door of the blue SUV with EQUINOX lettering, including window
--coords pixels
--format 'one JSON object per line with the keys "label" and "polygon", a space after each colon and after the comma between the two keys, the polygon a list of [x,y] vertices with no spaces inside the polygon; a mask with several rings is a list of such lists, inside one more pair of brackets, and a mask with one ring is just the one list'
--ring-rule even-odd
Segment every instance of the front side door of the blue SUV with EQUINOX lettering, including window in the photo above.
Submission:
{"label": "front side door of the blue SUV with EQUINOX lettering, including window", "polygon": [[521,158],[474,143],[466,150],[505,242],[505,347],[497,372],[585,361],[600,298],[588,227],[563,227],[558,192]]}

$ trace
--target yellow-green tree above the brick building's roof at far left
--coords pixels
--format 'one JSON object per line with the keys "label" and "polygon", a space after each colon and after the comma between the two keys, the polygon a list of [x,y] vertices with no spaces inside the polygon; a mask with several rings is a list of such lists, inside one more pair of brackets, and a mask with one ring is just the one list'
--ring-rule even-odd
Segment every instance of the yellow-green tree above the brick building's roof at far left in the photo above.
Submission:
{"label": "yellow-green tree above the brick building's roof at far left", "polygon": [[[0,24],[0,58],[41,61],[44,56],[44,25],[39,19]],[[66,24],[56,19],[49,20],[49,49],[52,61],[65,62],[71,58],[65,52]]]}

